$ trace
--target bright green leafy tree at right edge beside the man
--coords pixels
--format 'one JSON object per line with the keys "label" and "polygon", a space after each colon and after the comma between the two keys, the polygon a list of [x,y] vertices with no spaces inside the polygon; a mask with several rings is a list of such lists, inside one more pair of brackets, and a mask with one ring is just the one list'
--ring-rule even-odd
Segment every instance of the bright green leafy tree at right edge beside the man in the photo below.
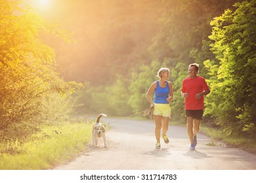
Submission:
{"label": "bright green leafy tree at right edge beside the man", "polygon": [[211,22],[210,39],[218,61],[205,61],[209,69],[211,98],[207,112],[226,134],[256,134],[256,19],[255,1],[235,3]]}

